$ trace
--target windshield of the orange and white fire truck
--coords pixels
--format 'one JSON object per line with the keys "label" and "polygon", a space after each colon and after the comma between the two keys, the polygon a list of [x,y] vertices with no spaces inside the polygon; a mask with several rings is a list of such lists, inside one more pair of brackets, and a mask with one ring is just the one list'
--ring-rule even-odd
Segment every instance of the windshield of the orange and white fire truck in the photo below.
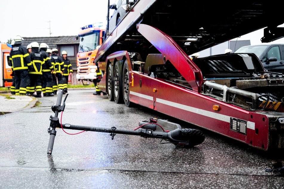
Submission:
{"label": "windshield of the orange and white fire truck", "polygon": [[79,52],[87,52],[96,49],[99,45],[100,31],[93,30],[92,33],[87,33],[80,36]]}

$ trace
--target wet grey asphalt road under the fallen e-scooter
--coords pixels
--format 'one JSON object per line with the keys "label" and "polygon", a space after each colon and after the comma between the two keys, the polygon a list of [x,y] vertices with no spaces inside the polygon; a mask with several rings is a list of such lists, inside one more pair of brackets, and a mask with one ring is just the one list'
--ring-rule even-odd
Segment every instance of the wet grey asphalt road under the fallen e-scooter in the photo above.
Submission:
{"label": "wet grey asphalt road under the fallen e-scooter", "polygon": [[[65,95],[63,95],[65,97]],[[279,153],[265,153],[204,131],[194,148],[159,144],[159,139],[56,128],[47,154],[51,106],[42,97],[31,109],[0,115],[0,188],[284,188]],[[150,117],[184,122],[143,107],[129,108],[93,90],[70,90],[62,123],[133,130]]]}

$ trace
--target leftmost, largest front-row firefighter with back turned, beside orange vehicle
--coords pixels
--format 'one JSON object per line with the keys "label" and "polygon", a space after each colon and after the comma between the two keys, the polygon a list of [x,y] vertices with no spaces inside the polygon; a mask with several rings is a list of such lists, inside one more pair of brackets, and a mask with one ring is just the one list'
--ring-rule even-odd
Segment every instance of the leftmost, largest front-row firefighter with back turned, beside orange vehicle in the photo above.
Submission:
{"label": "leftmost, largest front-row firefighter with back turned, beside orange vehicle", "polygon": [[10,52],[10,61],[12,62],[12,70],[15,77],[15,93],[16,95],[25,95],[27,90],[27,78],[29,71],[33,69],[30,55],[27,49],[22,46],[24,39],[17,35],[14,38],[15,44]]}

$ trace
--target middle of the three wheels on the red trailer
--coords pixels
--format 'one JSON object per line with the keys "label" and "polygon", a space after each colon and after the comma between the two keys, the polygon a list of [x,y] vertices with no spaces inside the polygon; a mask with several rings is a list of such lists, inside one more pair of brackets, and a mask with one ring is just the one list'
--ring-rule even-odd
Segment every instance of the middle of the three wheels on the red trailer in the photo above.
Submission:
{"label": "middle of the three wheels on the red trailer", "polygon": [[115,64],[113,72],[113,96],[117,104],[122,103],[122,76],[118,63]]}

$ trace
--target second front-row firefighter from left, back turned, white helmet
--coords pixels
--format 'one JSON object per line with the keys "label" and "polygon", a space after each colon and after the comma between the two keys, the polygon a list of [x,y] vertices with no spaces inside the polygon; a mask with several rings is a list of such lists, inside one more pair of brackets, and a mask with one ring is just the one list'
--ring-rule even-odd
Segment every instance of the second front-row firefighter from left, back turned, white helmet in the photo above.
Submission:
{"label": "second front-row firefighter from left, back turned, white helmet", "polygon": [[[34,96],[37,98],[42,97],[42,64],[44,63],[43,56],[39,53],[39,43],[31,43],[32,52],[30,53],[30,59],[33,64],[33,69],[29,71],[30,83],[27,86],[27,96]],[[36,91],[36,95],[34,92]]]}

